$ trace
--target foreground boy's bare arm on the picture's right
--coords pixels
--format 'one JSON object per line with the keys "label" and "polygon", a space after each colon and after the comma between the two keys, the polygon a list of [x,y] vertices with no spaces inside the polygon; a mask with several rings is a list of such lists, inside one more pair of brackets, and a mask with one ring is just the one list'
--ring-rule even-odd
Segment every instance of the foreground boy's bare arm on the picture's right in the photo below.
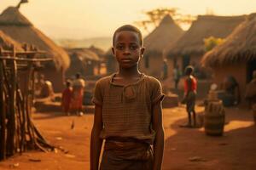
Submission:
{"label": "foreground boy's bare arm on the picture's right", "polygon": [[153,129],[155,131],[154,139],[154,170],[160,170],[162,167],[165,134],[162,123],[162,108],[160,101],[153,106]]}

